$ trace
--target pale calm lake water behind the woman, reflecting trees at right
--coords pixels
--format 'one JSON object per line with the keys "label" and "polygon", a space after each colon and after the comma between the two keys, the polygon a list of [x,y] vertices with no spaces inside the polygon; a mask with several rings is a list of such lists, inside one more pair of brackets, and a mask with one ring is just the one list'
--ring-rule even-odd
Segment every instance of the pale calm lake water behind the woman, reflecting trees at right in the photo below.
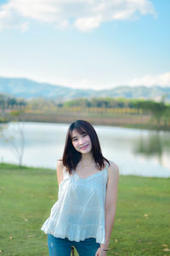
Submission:
{"label": "pale calm lake water behind the woman, reflecting trees at right", "polygon": [[[14,137],[20,149],[19,125],[25,136],[23,164],[55,169],[62,156],[65,135],[69,125],[23,123],[8,125],[5,137]],[[170,177],[170,132],[126,129],[94,125],[103,154],[113,160],[123,175]],[[11,143],[0,139],[1,162],[18,163]]]}

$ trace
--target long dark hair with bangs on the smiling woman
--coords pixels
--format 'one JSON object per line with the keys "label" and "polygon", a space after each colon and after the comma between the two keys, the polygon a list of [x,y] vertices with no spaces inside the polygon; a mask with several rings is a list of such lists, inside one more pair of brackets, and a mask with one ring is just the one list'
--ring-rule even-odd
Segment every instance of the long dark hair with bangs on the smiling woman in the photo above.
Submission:
{"label": "long dark hair with bangs on the smiling woman", "polygon": [[101,171],[105,167],[105,161],[110,165],[109,160],[105,159],[101,152],[99,138],[93,125],[85,120],[77,120],[69,126],[65,139],[65,149],[62,160],[67,172],[71,174],[71,171],[76,169],[78,162],[82,159],[82,154],[72,145],[71,134],[74,129],[80,134],[87,133],[90,137],[95,166]]}

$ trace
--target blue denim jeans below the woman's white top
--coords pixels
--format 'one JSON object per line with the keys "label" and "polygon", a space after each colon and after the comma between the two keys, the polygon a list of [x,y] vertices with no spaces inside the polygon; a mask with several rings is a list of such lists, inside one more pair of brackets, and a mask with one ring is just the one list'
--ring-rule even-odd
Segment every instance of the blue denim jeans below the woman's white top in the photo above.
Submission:
{"label": "blue denim jeans below the woman's white top", "polygon": [[95,238],[70,241],[68,238],[59,238],[48,234],[49,256],[71,256],[71,246],[77,248],[79,256],[95,256],[100,244],[96,242]]}

